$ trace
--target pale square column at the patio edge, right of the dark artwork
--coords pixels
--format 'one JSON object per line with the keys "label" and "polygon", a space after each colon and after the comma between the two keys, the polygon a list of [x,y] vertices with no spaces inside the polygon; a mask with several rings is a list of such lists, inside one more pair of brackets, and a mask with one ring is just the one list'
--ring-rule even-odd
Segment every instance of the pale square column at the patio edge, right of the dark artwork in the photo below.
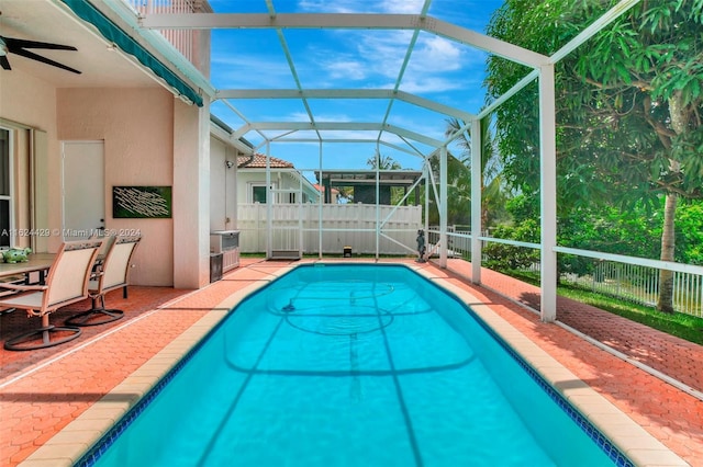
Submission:
{"label": "pale square column at the patio edge, right of the dark artwork", "polygon": [[174,287],[210,283],[210,101],[174,101]]}

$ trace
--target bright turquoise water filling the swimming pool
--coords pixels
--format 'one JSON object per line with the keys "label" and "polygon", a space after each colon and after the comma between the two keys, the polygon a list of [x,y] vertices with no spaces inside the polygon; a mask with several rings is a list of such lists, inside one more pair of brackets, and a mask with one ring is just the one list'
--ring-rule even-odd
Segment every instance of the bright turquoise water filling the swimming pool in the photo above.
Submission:
{"label": "bright turquoise water filling the swimming pool", "polygon": [[249,296],[80,464],[631,465],[469,308],[397,265]]}

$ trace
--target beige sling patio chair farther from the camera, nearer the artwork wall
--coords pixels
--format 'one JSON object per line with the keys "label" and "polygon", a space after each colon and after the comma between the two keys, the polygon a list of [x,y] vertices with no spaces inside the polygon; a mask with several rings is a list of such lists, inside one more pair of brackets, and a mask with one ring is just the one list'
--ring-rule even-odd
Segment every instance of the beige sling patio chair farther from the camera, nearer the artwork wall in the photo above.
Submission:
{"label": "beige sling patio chair farther from the camera, nearer the artwork wall", "polygon": [[124,316],[123,310],[105,308],[105,294],[122,288],[124,298],[127,297],[132,255],[141,240],[141,237],[113,237],[112,244],[88,284],[92,307],[68,318],[65,324],[78,327],[105,324]]}

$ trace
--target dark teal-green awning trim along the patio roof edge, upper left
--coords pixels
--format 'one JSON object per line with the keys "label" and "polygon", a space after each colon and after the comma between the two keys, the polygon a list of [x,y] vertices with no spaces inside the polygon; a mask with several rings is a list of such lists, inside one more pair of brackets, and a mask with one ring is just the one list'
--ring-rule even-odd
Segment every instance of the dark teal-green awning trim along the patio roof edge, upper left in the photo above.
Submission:
{"label": "dark teal-green awning trim along the patio roof edge, upper left", "polygon": [[183,80],[176,76],[168,67],[161,64],[148,50],[142,47],[127,33],[98,11],[87,0],[62,0],[74,13],[83,21],[89,22],[100,31],[108,41],[115,44],[125,53],[134,56],[142,65],[154,71],[156,76],[166,81],[180,94],[188,98],[199,107],[202,107],[202,98],[192,90]]}

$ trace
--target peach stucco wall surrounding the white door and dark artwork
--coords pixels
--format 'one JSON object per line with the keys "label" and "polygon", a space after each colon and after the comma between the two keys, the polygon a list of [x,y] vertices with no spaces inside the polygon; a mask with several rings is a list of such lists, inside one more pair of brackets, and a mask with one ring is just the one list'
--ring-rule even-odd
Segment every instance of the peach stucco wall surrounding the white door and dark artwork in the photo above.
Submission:
{"label": "peach stucco wall surrounding the white door and dark artwork", "polygon": [[[104,140],[105,228],[136,229],[143,237],[131,282],[172,285],[172,219],[113,218],[112,186],[172,185],[174,96],[146,88],[60,89],[56,98],[59,141]],[[54,173],[60,173],[60,166]],[[60,212],[60,196],[52,203]]]}

